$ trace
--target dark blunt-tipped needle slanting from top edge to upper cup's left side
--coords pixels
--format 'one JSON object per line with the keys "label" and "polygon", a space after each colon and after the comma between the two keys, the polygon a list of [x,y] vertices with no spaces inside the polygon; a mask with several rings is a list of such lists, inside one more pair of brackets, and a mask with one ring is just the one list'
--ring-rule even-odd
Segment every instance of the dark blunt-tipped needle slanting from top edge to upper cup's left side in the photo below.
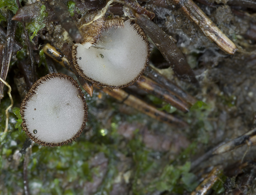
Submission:
{"label": "dark blunt-tipped needle slanting from top edge to upper cup's left side", "polygon": [[62,0],[48,0],[48,3],[59,19],[62,27],[68,31],[68,34],[76,43],[80,43],[83,37],[71,18],[67,5]]}

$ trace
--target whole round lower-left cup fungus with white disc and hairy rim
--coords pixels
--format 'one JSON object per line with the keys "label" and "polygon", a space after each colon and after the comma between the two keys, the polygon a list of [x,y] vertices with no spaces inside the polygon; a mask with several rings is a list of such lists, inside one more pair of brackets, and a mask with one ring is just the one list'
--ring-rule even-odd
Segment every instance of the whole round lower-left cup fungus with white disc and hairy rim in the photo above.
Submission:
{"label": "whole round lower-left cup fungus with white disc and hairy rim", "polygon": [[22,127],[36,143],[60,146],[80,136],[87,105],[78,83],[65,74],[37,80],[21,103]]}

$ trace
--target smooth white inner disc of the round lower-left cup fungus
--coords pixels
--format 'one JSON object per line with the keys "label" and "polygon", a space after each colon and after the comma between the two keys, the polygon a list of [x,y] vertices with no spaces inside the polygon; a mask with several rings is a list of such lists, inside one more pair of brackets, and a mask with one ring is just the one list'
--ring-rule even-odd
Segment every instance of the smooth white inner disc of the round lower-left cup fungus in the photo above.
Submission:
{"label": "smooth white inner disc of the round lower-left cup fungus", "polygon": [[65,142],[81,130],[86,111],[76,86],[67,79],[55,77],[42,81],[35,92],[27,102],[24,119],[28,131],[37,140]]}

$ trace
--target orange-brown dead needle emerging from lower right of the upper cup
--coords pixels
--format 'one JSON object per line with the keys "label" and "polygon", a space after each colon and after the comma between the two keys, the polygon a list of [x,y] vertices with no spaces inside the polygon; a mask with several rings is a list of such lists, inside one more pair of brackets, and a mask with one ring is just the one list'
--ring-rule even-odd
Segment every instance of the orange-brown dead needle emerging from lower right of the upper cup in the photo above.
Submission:
{"label": "orange-brown dead needle emerging from lower right of the upper cup", "polygon": [[163,99],[164,101],[170,103],[172,106],[176,107],[184,113],[187,113],[189,111],[190,106],[188,105],[186,100],[184,100],[178,94],[175,94],[170,90],[164,89],[162,85],[145,76],[142,76],[138,81],[136,81],[135,85],[140,89],[145,90],[160,99]]}

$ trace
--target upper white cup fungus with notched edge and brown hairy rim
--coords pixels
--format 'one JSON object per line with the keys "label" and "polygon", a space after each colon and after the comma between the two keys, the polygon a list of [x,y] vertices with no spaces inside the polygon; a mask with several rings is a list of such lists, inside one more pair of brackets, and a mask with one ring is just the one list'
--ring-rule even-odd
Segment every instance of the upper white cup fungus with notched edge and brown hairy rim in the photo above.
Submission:
{"label": "upper white cup fungus with notched edge and brown hairy rim", "polygon": [[149,44],[143,30],[134,20],[109,19],[98,24],[92,24],[92,33],[84,32],[84,42],[73,45],[77,72],[101,87],[134,83],[148,64]]}

